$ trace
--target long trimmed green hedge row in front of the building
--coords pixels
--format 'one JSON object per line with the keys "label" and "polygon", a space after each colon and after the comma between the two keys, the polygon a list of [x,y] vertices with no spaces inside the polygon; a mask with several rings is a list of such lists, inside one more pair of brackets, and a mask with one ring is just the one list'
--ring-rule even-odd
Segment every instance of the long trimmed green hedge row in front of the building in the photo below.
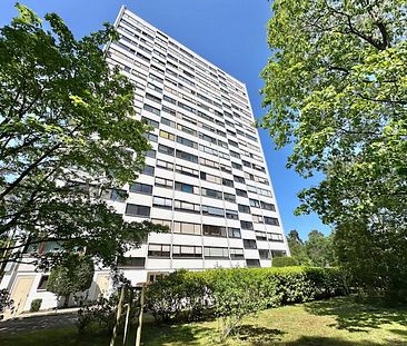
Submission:
{"label": "long trimmed green hedge row in front of the building", "polygon": [[175,271],[147,289],[156,322],[247,315],[264,308],[345,295],[337,268],[234,268]]}

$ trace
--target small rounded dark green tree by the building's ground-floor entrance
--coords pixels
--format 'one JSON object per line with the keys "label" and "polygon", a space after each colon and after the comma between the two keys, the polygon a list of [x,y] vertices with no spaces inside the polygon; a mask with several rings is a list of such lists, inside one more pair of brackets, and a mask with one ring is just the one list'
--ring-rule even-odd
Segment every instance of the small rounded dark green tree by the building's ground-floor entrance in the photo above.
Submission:
{"label": "small rounded dark green tree by the building's ground-floor entrance", "polygon": [[87,290],[93,280],[95,264],[92,258],[80,254],[71,254],[54,266],[50,273],[47,290],[64,297],[68,305],[71,294]]}

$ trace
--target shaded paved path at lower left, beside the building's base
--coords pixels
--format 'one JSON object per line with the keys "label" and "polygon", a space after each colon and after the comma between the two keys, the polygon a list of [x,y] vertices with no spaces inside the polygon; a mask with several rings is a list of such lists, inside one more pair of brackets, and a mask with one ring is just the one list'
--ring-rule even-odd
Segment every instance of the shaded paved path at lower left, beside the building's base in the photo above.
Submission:
{"label": "shaded paved path at lower left, beside the building's base", "polygon": [[21,332],[27,333],[71,326],[75,324],[77,316],[76,313],[59,313],[0,322],[0,338],[4,335],[12,335]]}

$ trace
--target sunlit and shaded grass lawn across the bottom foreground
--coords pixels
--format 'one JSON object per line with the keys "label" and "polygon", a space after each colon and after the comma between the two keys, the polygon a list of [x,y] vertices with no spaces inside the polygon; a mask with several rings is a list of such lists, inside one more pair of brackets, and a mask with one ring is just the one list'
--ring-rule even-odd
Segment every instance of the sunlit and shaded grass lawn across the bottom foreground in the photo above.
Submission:
{"label": "sunlit and shaded grass lawn across the bottom foreground", "polygon": [[[146,324],[142,345],[219,345],[217,328],[217,322],[159,327]],[[109,345],[109,338],[103,330],[78,335],[75,327],[69,327],[0,336],[0,345],[103,346]],[[133,345],[133,339],[129,345]],[[239,337],[228,339],[225,345],[407,345],[407,307],[359,304],[351,297],[285,306],[248,318],[240,328]]]}

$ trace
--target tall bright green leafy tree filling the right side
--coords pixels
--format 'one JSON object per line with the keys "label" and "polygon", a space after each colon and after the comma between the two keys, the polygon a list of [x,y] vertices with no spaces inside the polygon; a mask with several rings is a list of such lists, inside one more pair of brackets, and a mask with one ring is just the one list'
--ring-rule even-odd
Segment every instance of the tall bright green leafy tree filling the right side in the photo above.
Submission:
{"label": "tall bright green leafy tree filling the right side", "polygon": [[[260,126],[288,167],[319,185],[299,194],[336,229],[340,263],[385,290],[407,285],[405,1],[276,0]],[[366,241],[359,241],[359,238]],[[373,254],[375,254],[373,256]],[[374,257],[374,258],[373,258]]]}

